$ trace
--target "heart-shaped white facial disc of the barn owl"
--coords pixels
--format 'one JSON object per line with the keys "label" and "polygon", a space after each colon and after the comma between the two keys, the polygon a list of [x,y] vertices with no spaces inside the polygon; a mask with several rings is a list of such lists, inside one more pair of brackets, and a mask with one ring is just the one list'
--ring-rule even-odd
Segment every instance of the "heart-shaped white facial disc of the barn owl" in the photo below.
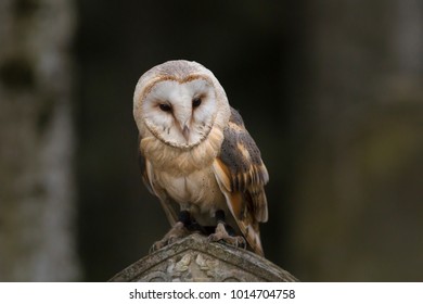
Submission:
{"label": "heart-shaped white facial disc of the barn owl", "polygon": [[204,78],[155,84],[142,102],[149,130],[163,142],[188,149],[207,138],[217,112],[213,85]]}

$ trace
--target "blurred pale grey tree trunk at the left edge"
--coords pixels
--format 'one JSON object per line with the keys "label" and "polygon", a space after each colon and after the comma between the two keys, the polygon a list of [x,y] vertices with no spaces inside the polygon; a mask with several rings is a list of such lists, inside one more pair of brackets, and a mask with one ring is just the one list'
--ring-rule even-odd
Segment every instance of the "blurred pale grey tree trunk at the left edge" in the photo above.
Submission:
{"label": "blurred pale grey tree trunk at the left edge", "polygon": [[0,281],[78,278],[72,4],[0,3]]}

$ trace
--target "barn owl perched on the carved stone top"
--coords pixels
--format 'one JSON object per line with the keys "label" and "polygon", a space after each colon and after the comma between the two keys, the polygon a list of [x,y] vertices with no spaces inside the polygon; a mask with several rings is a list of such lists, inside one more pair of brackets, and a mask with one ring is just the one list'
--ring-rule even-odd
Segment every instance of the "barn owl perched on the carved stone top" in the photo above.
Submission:
{"label": "barn owl perched on the carved stone top", "polygon": [[137,84],[133,116],[144,183],[171,225],[153,250],[213,227],[210,241],[264,255],[268,172],[215,75],[184,60],[154,66]]}

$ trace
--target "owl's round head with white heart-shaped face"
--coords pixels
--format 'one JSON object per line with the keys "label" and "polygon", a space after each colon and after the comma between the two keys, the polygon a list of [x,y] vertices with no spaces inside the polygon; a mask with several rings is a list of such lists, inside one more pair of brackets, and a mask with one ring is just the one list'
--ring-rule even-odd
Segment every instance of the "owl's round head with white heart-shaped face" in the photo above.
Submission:
{"label": "owl's round head with white heart-shaped face", "polygon": [[138,81],[133,116],[142,137],[152,135],[181,149],[200,144],[215,125],[229,119],[223,88],[213,73],[196,62],[168,61]]}

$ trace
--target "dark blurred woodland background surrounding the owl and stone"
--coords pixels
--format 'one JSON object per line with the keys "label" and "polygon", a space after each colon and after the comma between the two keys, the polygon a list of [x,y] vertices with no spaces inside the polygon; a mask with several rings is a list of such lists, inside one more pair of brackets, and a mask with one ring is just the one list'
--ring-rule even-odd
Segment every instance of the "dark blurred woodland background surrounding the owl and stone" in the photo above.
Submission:
{"label": "dark blurred woodland background surrounding the owl and stone", "polygon": [[105,281],[169,228],[132,94],[211,69],[270,174],[267,257],[303,281],[423,280],[423,3],[2,0],[0,281]]}

